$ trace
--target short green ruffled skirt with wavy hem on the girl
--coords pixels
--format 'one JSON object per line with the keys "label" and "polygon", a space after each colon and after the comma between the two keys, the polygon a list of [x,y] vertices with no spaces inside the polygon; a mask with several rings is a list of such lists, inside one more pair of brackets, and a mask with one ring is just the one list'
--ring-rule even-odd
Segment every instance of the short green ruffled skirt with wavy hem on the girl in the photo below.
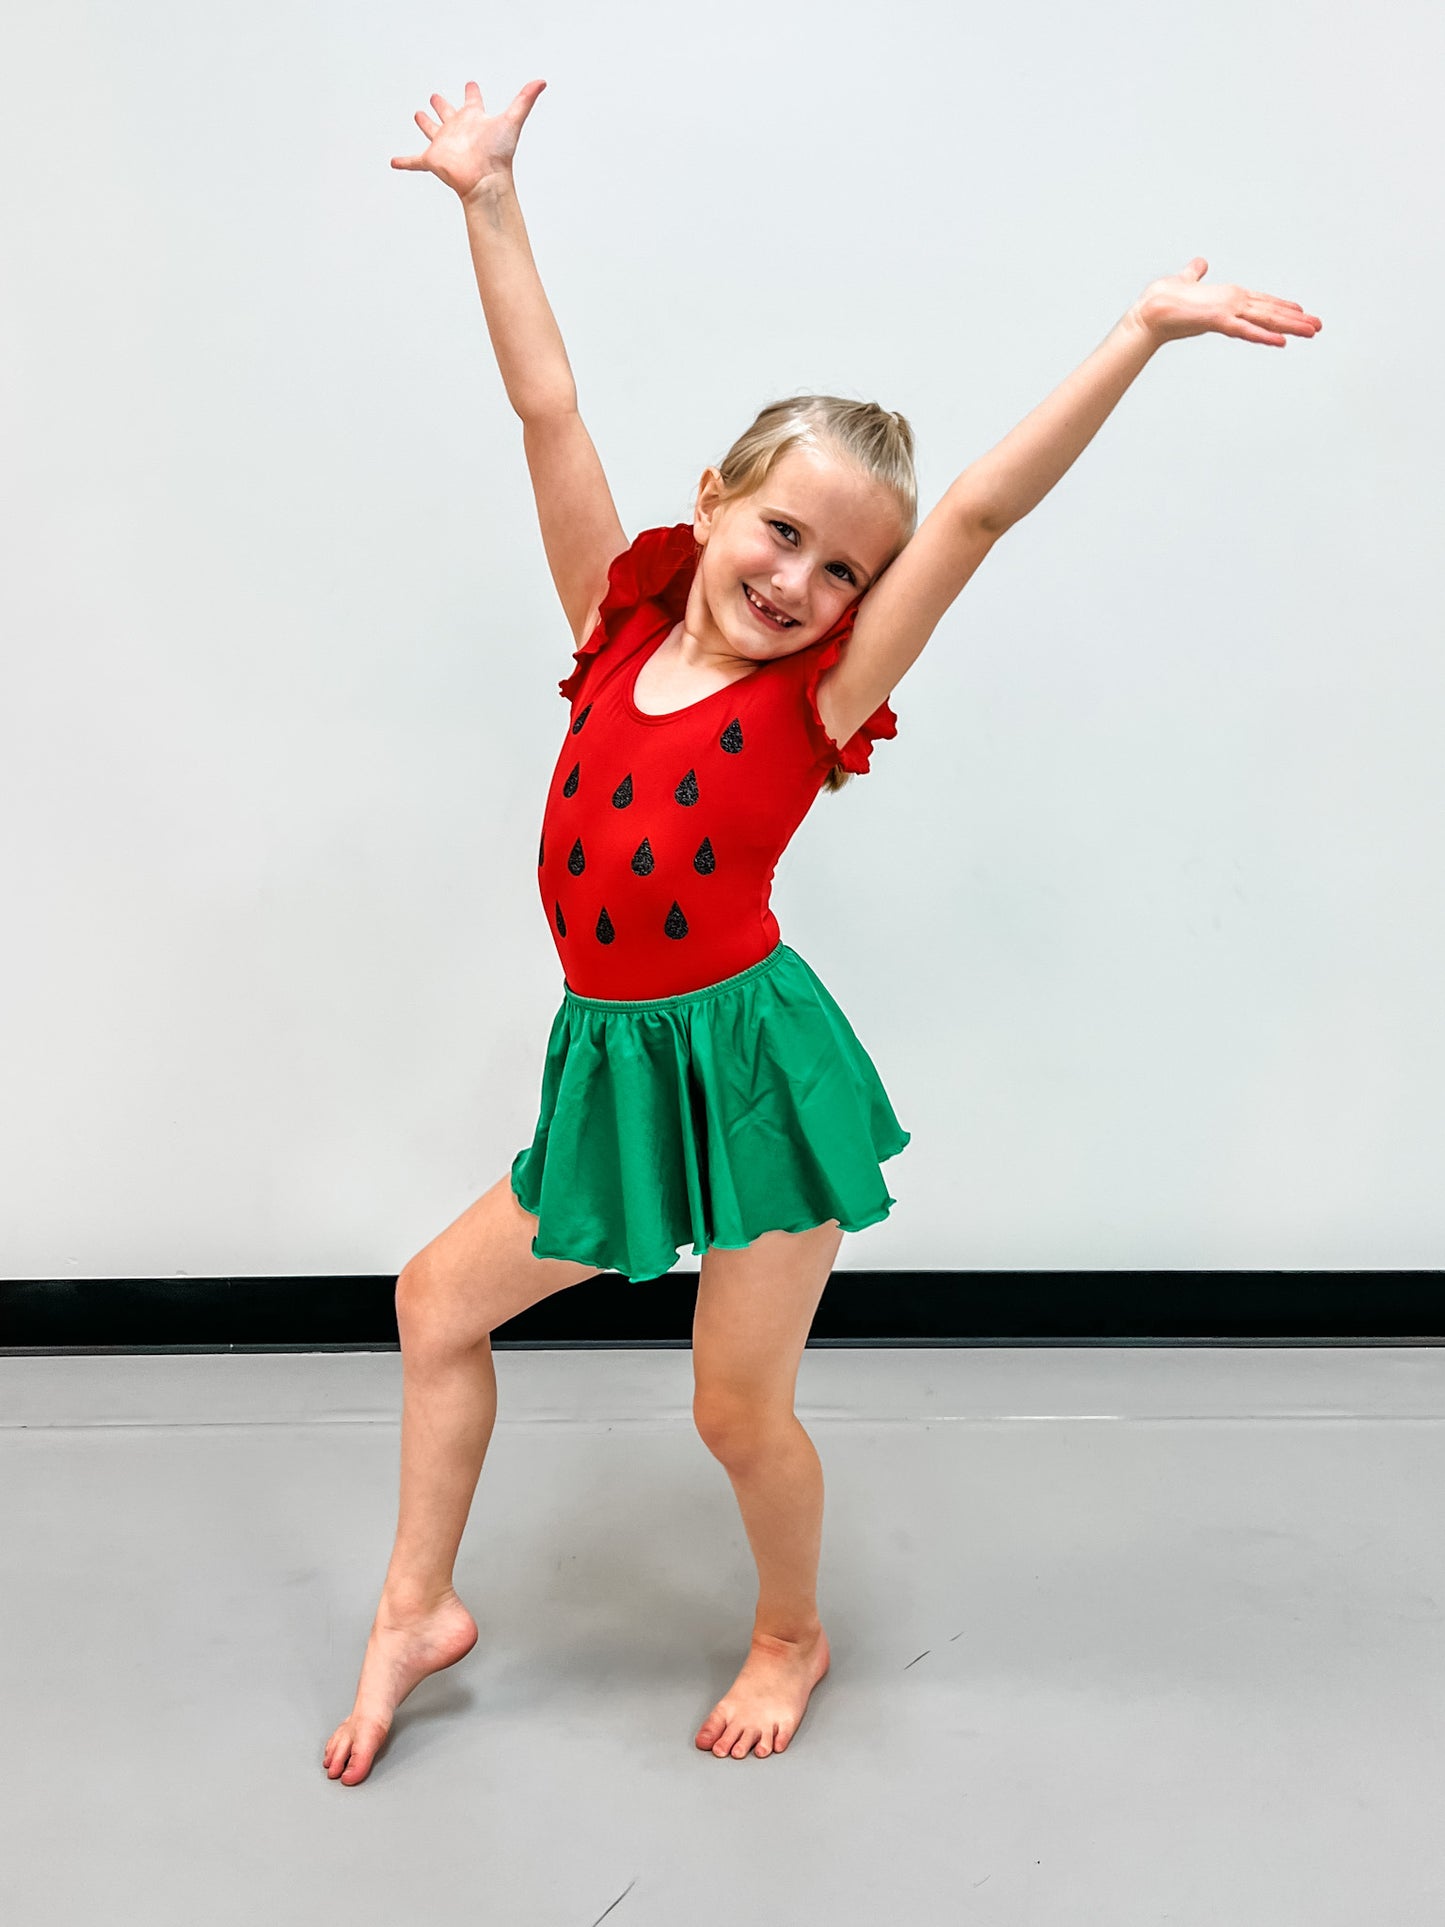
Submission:
{"label": "short green ruffled skirt with wavy hem on the girl", "polygon": [[809,965],[761,964],[680,996],[563,990],[541,1112],[511,1183],[532,1254],[661,1278],[678,1249],[888,1216],[879,1164],[909,1141],[854,1027]]}

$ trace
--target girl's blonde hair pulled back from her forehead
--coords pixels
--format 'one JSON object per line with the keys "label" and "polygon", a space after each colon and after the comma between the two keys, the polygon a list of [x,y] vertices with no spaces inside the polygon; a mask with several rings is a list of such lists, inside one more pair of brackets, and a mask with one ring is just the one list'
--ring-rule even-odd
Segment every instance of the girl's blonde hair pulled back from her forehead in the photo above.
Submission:
{"label": "girl's blonde hair pulled back from her forehead", "polygon": [[[902,414],[877,401],[842,395],[794,395],[759,409],[717,462],[722,476],[719,507],[740,495],[757,495],[788,449],[807,447],[852,462],[879,482],[898,503],[902,534],[888,563],[911,541],[919,520],[919,484],[913,472],[913,430]],[[888,567],[884,563],[884,568]],[[867,592],[865,592],[867,594]],[[852,773],[834,763],[823,788],[840,790]]]}

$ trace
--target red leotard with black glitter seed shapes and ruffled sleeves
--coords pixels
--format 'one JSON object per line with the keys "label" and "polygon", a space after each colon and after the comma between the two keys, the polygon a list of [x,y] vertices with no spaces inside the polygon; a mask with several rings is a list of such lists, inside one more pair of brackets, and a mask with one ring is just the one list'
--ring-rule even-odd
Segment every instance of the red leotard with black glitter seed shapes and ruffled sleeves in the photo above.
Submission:
{"label": "red leotard with black glitter seed shapes and ruffled sleeves", "polygon": [[701,990],[778,942],[773,871],[828,769],[863,775],[880,703],[838,748],[817,684],[852,634],[827,636],[669,715],[632,701],[642,665],[672,634],[697,567],[692,522],[647,528],[607,570],[576,669],[538,848],[538,884],[566,985],[578,996]]}

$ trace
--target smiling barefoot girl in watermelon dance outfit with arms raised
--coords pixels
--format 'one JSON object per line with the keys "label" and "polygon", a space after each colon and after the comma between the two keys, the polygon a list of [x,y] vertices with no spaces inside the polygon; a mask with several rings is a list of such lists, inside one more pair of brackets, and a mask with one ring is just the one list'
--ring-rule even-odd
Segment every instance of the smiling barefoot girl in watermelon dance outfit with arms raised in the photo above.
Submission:
{"label": "smiling barefoot girl in watermelon dance outfit with arms raised", "polygon": [[482,308],[557,594],[576,636],[568,728],[538,842],[563,965],[541,1110],[511,1172],[401,1272],[401,1515],[356,1702],[324,1763],[372,1767],[401,1700],[476,1644],[453,1563],[497,1412],[489,1333],[599,1270],[699,1254],[694,1416],[757,1561],[742,1671],[694,1736],[782,1752],[828,1669],[817,1613],[823,1474],[794,1414],[844,1231],[894,1202],[907,1143],[848,1017],[780,942],[773,869],[819,788],[896,734],[888,696],[1006,528],[1092,439],[1166,341],[1285,347],[1295,301],[1150,283],[1098,349],[917,526],[902,416],[830,395],[763,409],[703,470],[692,522],[628,543],[538,279],[512,183],[545,81],[487,116],[418,112],[426,170],[462,202]]}

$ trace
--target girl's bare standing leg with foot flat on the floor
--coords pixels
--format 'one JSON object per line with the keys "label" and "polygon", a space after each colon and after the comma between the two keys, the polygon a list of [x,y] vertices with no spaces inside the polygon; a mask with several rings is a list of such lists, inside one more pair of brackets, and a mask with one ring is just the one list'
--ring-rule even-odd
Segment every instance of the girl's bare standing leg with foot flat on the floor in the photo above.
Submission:
{"label": "girl's bare standing leg with foot flat on the floor", "polygon": [[[742,1673],[697,1729],[719,1757],[782,1752],[828,1671],[817,1613],[823,1466],[794,1412],[798,1366],[842,1245],[836,1220],[765,1231],[699,1260],[692,1332],[694,1418],[738,1497],[757,1561],[757,1613]],[[775,1740],[776,1734],[776,1740]]]}

